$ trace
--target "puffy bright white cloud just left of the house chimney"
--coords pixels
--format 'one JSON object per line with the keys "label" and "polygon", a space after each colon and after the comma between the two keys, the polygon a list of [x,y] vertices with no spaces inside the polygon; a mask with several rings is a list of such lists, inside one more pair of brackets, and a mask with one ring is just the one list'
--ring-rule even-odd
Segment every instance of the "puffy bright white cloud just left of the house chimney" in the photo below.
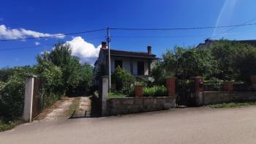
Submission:
{"label": "puffy bright white cloud just left of the house chimney", "polygon": [[94,61],[99,56],[101,45],[95,47],[93,44],[86,42],[82,37],[74,37],[66,43],[72,48],[72,56],[78,56],[80,62],[94,64]]}

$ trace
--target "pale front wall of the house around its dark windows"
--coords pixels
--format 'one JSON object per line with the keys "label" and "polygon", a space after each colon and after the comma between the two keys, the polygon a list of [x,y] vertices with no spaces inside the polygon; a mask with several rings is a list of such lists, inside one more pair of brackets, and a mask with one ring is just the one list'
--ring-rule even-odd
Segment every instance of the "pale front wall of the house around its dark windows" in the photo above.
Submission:
{"label": "pale front wall of the house around its dark windows", "polygon": [[[111,72],[115,71],[115,61],[121,60],[123,61],[123,69],[127,70],[128,72],[131,72],[132,75],[138,75],[138,61],[144,62],[144,75],[148,75],[148,59],[144,58],[124,58],[124,57],[114,57],[112,56],[111,61]],[[131,69],[132,64],[132,69]],[[132,70],[132,71],[131,71]]]}

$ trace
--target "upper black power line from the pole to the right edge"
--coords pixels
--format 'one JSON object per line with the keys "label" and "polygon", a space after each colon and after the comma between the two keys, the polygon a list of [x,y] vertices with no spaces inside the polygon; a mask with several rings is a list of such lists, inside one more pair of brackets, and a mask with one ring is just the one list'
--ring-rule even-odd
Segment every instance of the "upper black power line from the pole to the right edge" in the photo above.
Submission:
{"label": "upper black power line from the pole to the right edge", "polygon": [[206,27],[190,27],[190,28],[160,28],[160,29],[144,29],[144,28],[110,28],[112,30],[124,30],[124,31],[172,31],[172,30],[190,30],[190,29],[222,29],[229,27],[238,26],[254,26],[256,23],[246,23],[237,25],[227,25],[227,26],[206,26]]}

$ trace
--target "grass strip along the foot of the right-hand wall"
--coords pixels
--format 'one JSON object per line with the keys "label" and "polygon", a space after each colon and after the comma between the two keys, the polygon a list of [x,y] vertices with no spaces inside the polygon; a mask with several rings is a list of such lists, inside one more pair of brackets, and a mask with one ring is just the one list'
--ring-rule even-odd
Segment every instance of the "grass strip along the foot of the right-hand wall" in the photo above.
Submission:
{"label": "grass strip along the foot of the right-hand wall", "polygon": [[209,105],[211,108],[229,108],[229,107],[245,107],[249,105],[256,105],[256,102],[230,102],[216,105]]}

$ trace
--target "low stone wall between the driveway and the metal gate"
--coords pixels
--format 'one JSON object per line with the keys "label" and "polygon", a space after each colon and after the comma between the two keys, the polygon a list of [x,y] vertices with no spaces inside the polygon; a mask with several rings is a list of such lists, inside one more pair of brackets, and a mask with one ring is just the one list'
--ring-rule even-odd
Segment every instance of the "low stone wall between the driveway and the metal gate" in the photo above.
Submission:
{"label": "low stone wall between the driveway and the metal gate", "polygon": [[176,107],[176,97],[126,97],[108,99],[108,115],[142,113],[157,110],[168,110]]}

